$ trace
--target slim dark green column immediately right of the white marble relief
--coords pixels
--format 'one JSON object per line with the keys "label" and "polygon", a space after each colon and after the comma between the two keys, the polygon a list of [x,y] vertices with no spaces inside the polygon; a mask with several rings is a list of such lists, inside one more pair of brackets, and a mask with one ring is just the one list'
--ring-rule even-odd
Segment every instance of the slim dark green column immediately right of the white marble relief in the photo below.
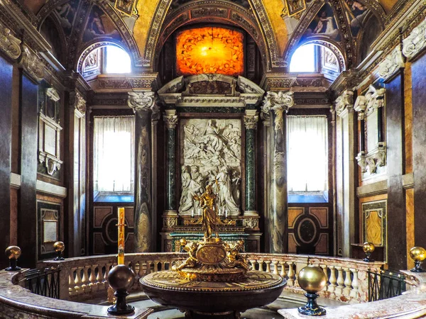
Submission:
{"label": "slim dark green column immediately right of the white marble relief", "polygon": [[244,216],[257,216],[256,211],[256,126],[259,117],[256,110],[246,110],[246,210]]}

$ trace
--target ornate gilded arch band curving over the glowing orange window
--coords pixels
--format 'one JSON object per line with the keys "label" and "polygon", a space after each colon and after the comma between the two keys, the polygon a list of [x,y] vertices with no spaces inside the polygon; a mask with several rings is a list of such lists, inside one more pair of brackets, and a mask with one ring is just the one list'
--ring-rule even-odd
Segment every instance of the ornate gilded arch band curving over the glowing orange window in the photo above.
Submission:
{"label": "ornate gilded arch band curving over the glowing orange window", "polygon": [[[191,1],[189,4],[185,4],[178,9],[170,11],[161,27],[154,56],[158,57],[165,41],[175,30],[180,28],[180,26],[200,21],[214,21],[243,28],[256,42],[261,55],[263,57],[269,57],[266,39],[263,38],[262,30],[259,28],[256,18],[251,11],[247,11],[236,4],[221,0]],[[267,63],[271,63],[266,61],[263,62],[265,63],[265,67]]]}

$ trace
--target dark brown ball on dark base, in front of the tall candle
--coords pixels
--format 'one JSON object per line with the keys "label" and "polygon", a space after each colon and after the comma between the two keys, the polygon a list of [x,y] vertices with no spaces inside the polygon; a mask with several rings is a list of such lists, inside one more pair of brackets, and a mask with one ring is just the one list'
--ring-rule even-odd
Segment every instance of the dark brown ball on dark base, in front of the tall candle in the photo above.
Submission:
{"label": "dark brown ball on dark base, in front of the tall candle", "polygon": [[128,289],[133,285],[136,274],[124,264],[118,264],[108,273],[109,286],[114,289],[117,301],[114,306],[108,308],[111,315],[128,315],[135,311],[135,307],[126,303],[126,296],[129,295]]}

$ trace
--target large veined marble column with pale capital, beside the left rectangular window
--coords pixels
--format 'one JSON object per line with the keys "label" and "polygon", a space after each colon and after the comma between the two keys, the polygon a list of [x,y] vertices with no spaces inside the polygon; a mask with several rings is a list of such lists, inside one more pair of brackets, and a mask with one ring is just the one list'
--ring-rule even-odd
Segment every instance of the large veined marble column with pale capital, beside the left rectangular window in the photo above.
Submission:
{"label": "large veined marble column with pale capital, beside the left rectangular window", "polygon": [[152,252],[154,216],[152,207],[151,116],[156,112],[152,91],[129,92],[129,106],[135,112],[135,251]]}

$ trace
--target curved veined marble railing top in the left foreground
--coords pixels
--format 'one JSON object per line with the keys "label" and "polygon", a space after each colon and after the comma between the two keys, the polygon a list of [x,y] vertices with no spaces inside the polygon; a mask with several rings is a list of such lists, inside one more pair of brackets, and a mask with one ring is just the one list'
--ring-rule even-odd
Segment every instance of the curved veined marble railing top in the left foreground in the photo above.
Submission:
{"label": "curved veined marble railing top in the left foreground", "polygon": [[107,313],[107,306],[75,303],[38,296],[16,283],[22,279],[22,272],[0,271],[0,318],[129,318],[145,319],[151,309],[135,309],[133,315],[113,316]]}

